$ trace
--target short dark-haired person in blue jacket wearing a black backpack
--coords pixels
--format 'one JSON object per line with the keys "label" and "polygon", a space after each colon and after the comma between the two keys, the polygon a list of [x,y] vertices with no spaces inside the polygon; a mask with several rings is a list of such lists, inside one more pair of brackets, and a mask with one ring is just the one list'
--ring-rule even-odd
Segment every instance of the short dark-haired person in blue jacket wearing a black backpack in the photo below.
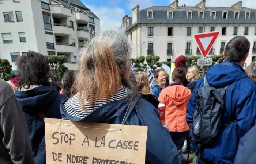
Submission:
{"label": "short dark-haired person in blue jacket wearing a black backpack", "polygon": [[231,39],[224,61],[207,70],[189,99],[187,123],[199,164],[233,164],[240,138],[254,125],[256,85],[241,67],[249,49],[244,36]]}

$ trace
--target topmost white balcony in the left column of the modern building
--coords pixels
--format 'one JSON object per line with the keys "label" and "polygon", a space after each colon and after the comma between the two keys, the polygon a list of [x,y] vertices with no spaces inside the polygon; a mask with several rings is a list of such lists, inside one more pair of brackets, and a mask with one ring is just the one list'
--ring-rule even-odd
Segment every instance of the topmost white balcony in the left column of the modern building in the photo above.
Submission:
{"label": "topmost white balcony in the left column of the modern building", "polygon": [[63,18],[71,17],[71,9],[63,4],[51,4],[51,12],[53,17]]}

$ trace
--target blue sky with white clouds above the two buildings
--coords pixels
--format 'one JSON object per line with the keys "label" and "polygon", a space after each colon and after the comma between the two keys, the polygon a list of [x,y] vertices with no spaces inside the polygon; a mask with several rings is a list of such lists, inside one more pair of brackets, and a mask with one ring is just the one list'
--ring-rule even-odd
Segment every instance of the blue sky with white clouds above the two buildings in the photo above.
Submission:
{"label": "blue sky with white clouds above the two buildings", "polygon": [[[80,0],[101,19],[101,27],[120,26],[125,15],[131,16],[132,8],[140,10],[151,6],[168,6],[174,0]],[[230,6],[238,0],[206,0],[206,6]],[[179,0],[179,6],[195,6],[200,0]],[[218,3],[218,2],[221,2]],[[242,0],[242,7],[256,9],[255,0]]]}

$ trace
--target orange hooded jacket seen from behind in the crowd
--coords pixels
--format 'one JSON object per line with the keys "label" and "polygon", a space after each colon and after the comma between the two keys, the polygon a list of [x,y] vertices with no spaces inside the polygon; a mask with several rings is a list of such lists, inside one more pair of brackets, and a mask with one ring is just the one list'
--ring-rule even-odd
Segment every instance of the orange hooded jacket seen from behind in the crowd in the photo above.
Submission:
{"label": "orange hooded jacket seen from behind in the crowd", "polygon": [[186,121],[188,100],[191,91],[183,85],[173,85],[162,89],[158,100],[165,104],[165,121],[169,122],[170,132],[185,132],[189,130]]}

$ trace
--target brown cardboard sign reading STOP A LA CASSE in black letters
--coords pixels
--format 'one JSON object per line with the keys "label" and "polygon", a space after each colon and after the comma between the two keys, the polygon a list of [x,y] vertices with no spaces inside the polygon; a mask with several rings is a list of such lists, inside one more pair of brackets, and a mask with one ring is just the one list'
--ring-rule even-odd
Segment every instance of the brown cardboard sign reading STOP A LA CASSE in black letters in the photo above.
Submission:
{"label": "brown cardboard sign reading STOP A LA CASSE in black letters", "polygon": [[47,164],[144,164],[147,127],[44,118]]}

